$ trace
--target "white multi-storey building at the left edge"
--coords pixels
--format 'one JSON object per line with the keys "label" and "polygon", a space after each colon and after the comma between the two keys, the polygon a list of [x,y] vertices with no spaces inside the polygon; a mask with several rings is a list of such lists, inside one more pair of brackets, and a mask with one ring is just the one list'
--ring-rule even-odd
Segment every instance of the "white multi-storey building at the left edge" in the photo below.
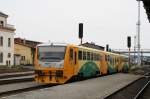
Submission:
{"label": "white multi-storey building at the left edge", "polygon": [[11,66],[14,63],[13,25],[7,24],[8,15],[0,12],[0,66]]}

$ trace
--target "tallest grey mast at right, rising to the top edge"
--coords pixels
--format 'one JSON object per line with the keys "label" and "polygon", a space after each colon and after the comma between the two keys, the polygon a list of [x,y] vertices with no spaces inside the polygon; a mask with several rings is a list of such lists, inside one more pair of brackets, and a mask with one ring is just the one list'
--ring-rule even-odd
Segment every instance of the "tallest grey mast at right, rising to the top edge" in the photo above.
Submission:
{"label": "tallest grey mast at right, rising to the top edge", "polygon": [[140,22],[140,0],[137,0],[138,1],[138,22],[137,22],[137,40],[138,40],[138,66],[141,66],[141,56],[140,56],[140,25],[141,25],[141,22]]}

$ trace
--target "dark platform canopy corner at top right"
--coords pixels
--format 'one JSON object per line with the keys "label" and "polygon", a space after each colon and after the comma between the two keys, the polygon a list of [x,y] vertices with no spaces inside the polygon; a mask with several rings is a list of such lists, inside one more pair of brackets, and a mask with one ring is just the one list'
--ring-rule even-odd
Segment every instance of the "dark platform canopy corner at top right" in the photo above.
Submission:
{"label": "dark platform canopy corner at top right", "polygon": [[[139,1],[139,0],[137,0],[137,1]],[[143,5],[146,10],[148,20],[150,22],[150,0],[140,0],[140,1],[143,1]]]}

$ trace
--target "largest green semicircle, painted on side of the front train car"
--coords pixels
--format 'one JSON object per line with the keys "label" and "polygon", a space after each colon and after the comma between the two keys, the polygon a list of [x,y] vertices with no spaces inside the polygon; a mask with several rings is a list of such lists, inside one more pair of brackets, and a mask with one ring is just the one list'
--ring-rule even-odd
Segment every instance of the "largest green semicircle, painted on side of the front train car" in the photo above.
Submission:
{"label": "largest green semicircle, painted on side of the front train car", "polygon": [[79,75],[82,77],[95,76],[96,73],[100,72],[98,66],[94,62],[86,62],[80,69]]}

